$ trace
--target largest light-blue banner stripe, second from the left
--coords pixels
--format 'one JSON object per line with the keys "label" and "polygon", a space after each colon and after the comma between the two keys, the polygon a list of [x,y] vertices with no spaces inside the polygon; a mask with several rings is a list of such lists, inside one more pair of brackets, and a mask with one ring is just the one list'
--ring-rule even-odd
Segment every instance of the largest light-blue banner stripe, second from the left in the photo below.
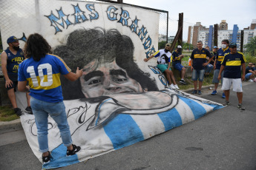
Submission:
{"label": "largest light-blue banner stripe, second from the left", "polygon": [[104,126],[114,149],[121,149],[144,140],[140,127],[131,115],[119,114]]}

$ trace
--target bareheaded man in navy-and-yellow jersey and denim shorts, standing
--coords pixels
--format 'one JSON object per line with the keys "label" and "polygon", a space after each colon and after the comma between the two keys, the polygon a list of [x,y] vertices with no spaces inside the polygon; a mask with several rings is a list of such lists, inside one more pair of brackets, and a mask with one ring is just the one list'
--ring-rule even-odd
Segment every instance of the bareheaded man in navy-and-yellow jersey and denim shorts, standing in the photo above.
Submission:
{"label": "bareheaded man in navy-and-yellow jersey and denim shorts, standing", "polygon": [[[206,62],[206,57],[209,57],[209,61]],[[197,79],[199,79],[198,95],[201,95],[201,88],[203,85],[203,76],[205,73],[205,67],[211,62],[212,56],[209,50],[203,48],[203,42],[197,41],[197,49],[191,53],[191,71],[192,81],[194,81],[194,91],[192,94],[197,94]]]}

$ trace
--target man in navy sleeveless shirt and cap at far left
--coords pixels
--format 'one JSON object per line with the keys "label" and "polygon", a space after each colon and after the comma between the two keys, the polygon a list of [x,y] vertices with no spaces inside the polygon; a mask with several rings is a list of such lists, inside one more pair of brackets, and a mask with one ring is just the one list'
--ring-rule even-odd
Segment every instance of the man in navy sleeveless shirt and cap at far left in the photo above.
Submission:
{"label": "man in navy sleeveless shirt and cap at far left", "polygon": [[[16,115],[22,115],[22,110],[18,108],[16,103],[16,86],[18,84],[18,69],[19,64],[24,61],[24,53],[19,48],[19,40],[15,36],[10,36],[7,39],[7,50],[1,53],[1,69],[4,75],[5,87],[7,89],[7,95],[10,98],[10,103],[13,105],[14,112]],[[32,113],[30,107],[30,95],[26,93],[27,97],[27,108],[25,112]]]}

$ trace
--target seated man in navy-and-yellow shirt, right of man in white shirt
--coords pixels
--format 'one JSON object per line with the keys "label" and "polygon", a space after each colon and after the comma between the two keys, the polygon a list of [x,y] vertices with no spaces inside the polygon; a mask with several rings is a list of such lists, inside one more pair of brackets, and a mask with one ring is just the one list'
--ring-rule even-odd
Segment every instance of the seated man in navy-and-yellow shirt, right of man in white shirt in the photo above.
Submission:
{"label": "seated man in navy-and-yellow shirt, right of man in white shirt", "polygon": [[181,65],[181,60],[184,58],[184,55],[181,54],[182,47],[180,45],[177,46],[177,49],[172,52],[172,66],[180,71],[180,83],[181,84],[187,84],[186,81],[184,81],[184,76],[186,73],[186,68]]}

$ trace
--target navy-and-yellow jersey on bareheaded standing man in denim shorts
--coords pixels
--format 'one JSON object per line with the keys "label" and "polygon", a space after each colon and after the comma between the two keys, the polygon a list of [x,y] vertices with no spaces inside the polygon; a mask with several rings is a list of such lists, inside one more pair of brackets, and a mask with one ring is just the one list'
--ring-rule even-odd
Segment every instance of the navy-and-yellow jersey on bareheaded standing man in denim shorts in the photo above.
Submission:
{"label": "navy-and-yellow jersey on bareheaded standing man in denim shorts", "polygon": [[209,50],[206,50],[205,48],[202,48],[202,50],[198,50],[198,49],[193,50],[190,58],[193,60],[194,69],[198,69],[198,70],[205,69],[205,67],[203,67],[203,63],[207,62],[206,56],[208,56],[209,58],[212,58]]}

